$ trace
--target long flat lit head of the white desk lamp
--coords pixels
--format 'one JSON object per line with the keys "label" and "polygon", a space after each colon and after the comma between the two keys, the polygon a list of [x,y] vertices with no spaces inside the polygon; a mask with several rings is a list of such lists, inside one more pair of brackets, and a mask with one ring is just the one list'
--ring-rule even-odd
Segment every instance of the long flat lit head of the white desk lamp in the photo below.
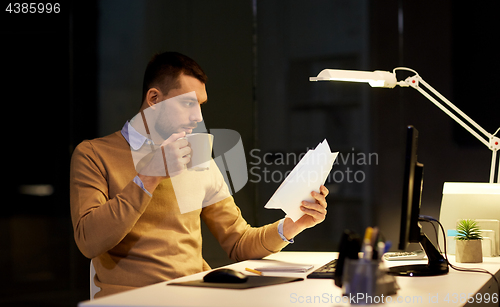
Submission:
{"label": "long flat lit head of the white desk lamp", "polygon": [[323,69],[318,76],[309,81],[350,81],[366,82],[371,87],[393,88],[398,82],[394,73],[376,70],[372,72],[359,70]]}

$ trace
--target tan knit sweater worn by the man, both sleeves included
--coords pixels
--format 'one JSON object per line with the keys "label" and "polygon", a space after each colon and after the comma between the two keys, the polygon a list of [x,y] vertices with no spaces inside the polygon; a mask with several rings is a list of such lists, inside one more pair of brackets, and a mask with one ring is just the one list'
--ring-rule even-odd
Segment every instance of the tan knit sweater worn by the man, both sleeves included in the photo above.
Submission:
{"label": "tan knit sweater worn by the man, both sleeves included", "polygon": [[170,179],[150,197],[132,181],[137,172],[119,131],[77,146],[71,160],[71,217],[78,248],[93,259],[101,288],[96,297],[210,269],[202,256],[200,216],[233,260],[262,258],[286,246],[278,222],[259,228],[247,224],[216,167],[190,173],[196,176],[193,202],[223,200],[181,214]]}

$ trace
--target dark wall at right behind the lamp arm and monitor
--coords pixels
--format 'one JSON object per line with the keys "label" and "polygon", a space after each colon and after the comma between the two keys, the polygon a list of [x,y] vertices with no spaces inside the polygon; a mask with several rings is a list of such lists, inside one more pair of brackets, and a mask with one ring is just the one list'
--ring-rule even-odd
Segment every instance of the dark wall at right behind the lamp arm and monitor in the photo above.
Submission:
{"label": "dark wall at right behind the lamp arm and monitor", "polygon": [[[500,121],[491,80],[498,59],[489,45],[495,37],[493,7],[457,1],[371,2],[371,66],[405,66],[461,108],[490,133]],[[402,31],[398,25],[402,14]],[[401,15],[400,15],[401,16]],[[398,79],[407,75],[401,74]],[[484,81],[484,82],[483,82]],[[372,125],[380,164],[374,177],[376,220],[398,240],[404,127],[419,130],[419,161],[424,163],[421,213],[439,217],[444,182],[488,182],[491,151],[427,98],[409,88],[372,90]]]}

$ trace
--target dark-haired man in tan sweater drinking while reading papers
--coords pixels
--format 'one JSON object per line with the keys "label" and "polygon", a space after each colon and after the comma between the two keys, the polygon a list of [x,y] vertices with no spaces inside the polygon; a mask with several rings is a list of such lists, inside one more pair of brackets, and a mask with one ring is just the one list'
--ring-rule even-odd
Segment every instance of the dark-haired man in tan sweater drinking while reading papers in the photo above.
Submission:
{"label": "dark-haired man in tan sweater drinking while reading papers", "polygon": [[[206,80],[187,56],[154,56],[145,72],[140,111],[158,110],[155,134],[139,132],[138,115],[121,131],[75,149],[71,214],[75,241],[95,266],[95,283],[101,288],[96,297],[210,269],[201,254],[200,217],[236,261],[276,253],[325,219],[328,190],[321,186],[320,193],[311,192],[314,203],[302,202],[305,215],[295,223],[285,218],[252,228],[216,167],[196,175],[185,170],[191,148],[184,136],[203,120]],[[177,99],[185,96],[191,99]],[[134,151],[151,145],[156,146],[154,154],[136,169]],[[188,186],[190,201],[209,205],[181,213],[172,180],[186,174],[196,176]]]}

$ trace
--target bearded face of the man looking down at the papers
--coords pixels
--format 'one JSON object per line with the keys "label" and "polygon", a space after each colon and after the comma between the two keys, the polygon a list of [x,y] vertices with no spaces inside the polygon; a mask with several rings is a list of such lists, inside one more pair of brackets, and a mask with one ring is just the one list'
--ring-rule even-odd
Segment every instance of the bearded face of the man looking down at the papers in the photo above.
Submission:
{"label": "bearded face of the man looking down at the papers", "polygon": [[[180,88],[171,89],[167,95],[159,95],[158,118],[155,129],[162,138],[167,139],[173,133],[185,131],[192,133],[197,124],[203,120],[201,104],[207,101],[205,84],[198,79],[181,74],[179,76]],[[165,99],[181,94],[195,92],[197,101],[190,99]]]}

